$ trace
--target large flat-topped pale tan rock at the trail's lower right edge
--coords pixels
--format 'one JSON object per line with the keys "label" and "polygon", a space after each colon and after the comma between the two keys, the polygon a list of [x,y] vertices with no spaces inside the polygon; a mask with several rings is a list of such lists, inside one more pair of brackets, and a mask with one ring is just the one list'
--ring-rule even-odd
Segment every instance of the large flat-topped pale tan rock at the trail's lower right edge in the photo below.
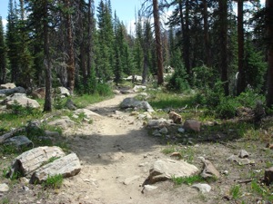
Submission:
{"label": "large flat-topped pale tan rock at the trail's lower right edge", "polygon": [[172,177],[188,177],[197,173],[196,166],[184,160],[156,160],[145,184],[153,184],[158,181],[170,180]]}

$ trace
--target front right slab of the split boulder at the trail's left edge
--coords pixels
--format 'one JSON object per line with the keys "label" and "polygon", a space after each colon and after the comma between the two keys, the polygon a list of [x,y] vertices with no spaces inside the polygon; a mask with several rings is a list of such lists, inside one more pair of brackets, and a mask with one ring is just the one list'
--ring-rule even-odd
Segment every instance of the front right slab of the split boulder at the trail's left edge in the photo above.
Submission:
{"label": "front right slab of the split boulder at the trail's left edge", "polygon": [[63,178],[73,177],[81,170],[80,160],[76,153],[71,153],[51,163],[45,164],[33,173],[30,183],[42,183],[48,177],[62,175]]}

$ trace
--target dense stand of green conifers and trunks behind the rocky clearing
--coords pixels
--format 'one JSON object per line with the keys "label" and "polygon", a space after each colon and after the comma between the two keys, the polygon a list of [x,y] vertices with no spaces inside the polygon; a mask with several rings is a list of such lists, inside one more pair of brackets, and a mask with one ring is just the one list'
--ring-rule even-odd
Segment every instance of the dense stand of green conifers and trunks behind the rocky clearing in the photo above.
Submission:
{"label": "dense stand of green conifers and trunks behind the rocky clearing", "polygon": [[[141,75],[143,84],[166,81],[175,92],[214,92],[211,103],[251,90],[271,107],[272,2],[146,0],[132,34],[110,0],[97,7],[94,0],[9,0],[5,31],[0,24],[0,83],[45,86],[44,111],[51,111],[52,87],[103,94],[106,82],[129,75]],[[167,9],[173,12],[163,24]]]}

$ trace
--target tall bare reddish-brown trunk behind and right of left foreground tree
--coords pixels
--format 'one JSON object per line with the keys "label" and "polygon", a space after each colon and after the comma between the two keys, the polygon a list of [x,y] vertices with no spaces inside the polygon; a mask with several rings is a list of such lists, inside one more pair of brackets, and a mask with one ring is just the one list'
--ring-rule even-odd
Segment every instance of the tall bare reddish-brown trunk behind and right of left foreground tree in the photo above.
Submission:
{"label": "tall bare reddish-brown trunk behind and right of left foreground tree", "polygon": [[[70,0],[65,0],[66,9],[71,7]],[[75,56],[73,47],[73,33],[71,24],[71,15],[66,11],[66,31],[67,31],[67,45],[68,45],[68,60],[67,60],[67,86],[71,93],[74,92],[75,86]]]}

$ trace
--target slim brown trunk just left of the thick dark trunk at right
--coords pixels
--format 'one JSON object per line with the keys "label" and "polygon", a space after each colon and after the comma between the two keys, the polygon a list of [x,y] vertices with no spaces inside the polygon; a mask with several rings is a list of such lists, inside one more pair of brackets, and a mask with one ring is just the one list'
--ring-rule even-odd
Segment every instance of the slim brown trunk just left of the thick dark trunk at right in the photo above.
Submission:
{"label": "slim brown trunk just left of the thick dark trunk at right", "polygon": [[204,42],[206,50],[206,65],[211,67],[211,50],[208,36],[208,23],[207,23],[207,0],[203,0],[204,10],[203,10],[203,19],[204,19]]}

